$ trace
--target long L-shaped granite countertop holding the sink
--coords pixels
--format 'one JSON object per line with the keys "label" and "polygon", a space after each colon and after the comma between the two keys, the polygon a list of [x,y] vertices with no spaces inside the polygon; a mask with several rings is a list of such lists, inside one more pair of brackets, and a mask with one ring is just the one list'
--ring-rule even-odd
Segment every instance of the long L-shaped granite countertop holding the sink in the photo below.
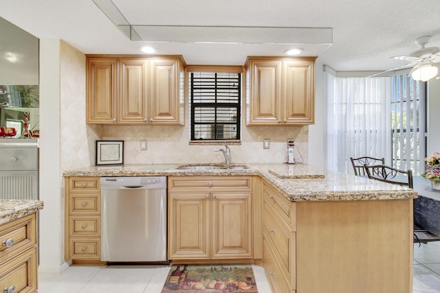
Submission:
{"label": "long L-shaped granite countertop holding the sink", "polygon": [[[182,165],[97,166],[64,176],[260,176],[292,201],[395,200],[417,198],[417,191],[307,164],[243,163],[247,169],[177,169]],[[195,164],[197,165],[197,164]],[[216,164],[212,164],[216,165]]]}

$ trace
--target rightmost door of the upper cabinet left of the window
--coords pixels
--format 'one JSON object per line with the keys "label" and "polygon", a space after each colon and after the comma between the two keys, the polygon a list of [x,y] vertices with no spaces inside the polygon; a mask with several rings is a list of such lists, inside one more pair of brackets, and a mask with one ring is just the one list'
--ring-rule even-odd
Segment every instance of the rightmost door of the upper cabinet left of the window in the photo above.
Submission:
{"label": "rightmost door of the upper cabinet left of the window", "polygon": [[176,58],[150,60],[149,122],[180,124],[180,62]]}

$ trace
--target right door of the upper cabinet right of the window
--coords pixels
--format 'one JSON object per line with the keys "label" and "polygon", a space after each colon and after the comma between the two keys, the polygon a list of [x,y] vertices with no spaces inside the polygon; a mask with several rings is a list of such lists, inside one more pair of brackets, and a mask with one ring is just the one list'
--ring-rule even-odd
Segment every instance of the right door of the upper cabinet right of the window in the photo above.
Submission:
{"label": "right door of the upper cabinet right of the window", "polygon": [[283,124],[314,123],[314,62],[284,62]]}

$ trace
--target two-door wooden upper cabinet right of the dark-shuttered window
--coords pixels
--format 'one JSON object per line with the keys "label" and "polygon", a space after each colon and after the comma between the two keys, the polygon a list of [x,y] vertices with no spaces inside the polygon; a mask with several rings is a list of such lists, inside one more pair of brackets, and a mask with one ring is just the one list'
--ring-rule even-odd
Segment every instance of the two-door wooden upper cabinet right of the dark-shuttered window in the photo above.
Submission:
{"label": "two-door wooden upper cabinet right of the dark-shuttered window", "polygon": [[249,57],[246,124],[314,124],[315,59]]}

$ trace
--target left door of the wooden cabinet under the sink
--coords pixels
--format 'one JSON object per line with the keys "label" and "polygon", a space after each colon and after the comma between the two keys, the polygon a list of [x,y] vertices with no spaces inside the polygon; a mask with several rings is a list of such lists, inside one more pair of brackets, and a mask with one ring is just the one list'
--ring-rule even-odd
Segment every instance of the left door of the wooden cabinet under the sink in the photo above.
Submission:
{"label": "left door of the wooden cabinet under the sink", "polygon": [[168,196],[168,257],[210,257],[210,194],[188,193]]}

